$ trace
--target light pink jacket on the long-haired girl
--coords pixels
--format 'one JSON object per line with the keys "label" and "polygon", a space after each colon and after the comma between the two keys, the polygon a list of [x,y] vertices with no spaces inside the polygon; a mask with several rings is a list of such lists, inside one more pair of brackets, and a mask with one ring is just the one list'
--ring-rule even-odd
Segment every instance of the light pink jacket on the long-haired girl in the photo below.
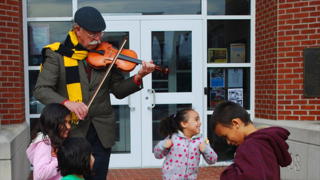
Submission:
{"label": "light pink jacket on the long-haired girl", "polygon": [[60,172],[57,172],[58,160],[51,156],[52,146],[49,137],[49,144],[39,134],[27,149],[27,157],[33,165],[33,179],[35,180],[60,180]]}

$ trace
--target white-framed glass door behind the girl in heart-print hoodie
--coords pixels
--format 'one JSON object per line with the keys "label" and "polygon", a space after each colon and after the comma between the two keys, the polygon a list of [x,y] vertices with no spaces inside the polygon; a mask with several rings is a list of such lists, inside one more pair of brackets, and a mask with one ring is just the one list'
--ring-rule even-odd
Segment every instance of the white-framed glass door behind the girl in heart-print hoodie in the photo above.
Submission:
{"label": "white-framed glass door behind the girl in heart-print hoodie", "polygon": [[[143,78],[141,90],[142,166],[161,166],[164,159],[153,155],[161,137],[162,118],[183,108],[203,116],[203,57],[201,20],[141,21],[141,59],[168,68],[169,74],[154,72]],[[201,130],[203,133],[203,128]]]}

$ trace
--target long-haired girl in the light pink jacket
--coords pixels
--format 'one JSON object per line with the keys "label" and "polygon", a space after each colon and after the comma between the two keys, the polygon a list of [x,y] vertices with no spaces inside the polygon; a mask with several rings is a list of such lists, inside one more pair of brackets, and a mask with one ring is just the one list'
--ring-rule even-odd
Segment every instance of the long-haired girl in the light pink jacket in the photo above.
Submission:
{"label": "long-haired girl in the light pink jacket", "polygon": [[70,110],[62,104],[48,104],[41,112],[30,137],[27,157],[33,165],[33,178],[60,180],[55,156],[70,131]]}

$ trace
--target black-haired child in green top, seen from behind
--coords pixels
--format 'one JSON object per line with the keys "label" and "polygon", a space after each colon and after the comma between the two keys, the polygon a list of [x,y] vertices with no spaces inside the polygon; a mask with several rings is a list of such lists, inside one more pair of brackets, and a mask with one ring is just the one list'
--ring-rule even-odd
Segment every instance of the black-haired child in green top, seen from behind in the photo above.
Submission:
{"label": "black-haired child in green top, seen from behind", "polygon": [[92,147],[82,137],[69,137],[63,141],[58,153],[58,172],[61,180],[84,180],[83,175],[93,175],[91,170],[94,163]]}

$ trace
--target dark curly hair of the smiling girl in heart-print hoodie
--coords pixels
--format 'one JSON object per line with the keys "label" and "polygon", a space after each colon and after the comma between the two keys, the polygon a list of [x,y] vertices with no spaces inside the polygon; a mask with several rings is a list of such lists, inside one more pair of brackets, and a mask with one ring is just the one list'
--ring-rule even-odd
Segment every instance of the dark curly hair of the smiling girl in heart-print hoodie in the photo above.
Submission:
{"label": "dark curly hair of the smiling girl in heart-print hoodie", "polygon": [[158,133],[162,137],[166,137],[170,135],[169,138],[171,138],[173,133],[178,133],[178,130],[182,131],[181,122],[188,121],[188,112],[190,110],[193,110],[193,109],[190,109],[190,108],[182,109],[178,111],[176,115],[172,114],[162,119],[159,123]]}

